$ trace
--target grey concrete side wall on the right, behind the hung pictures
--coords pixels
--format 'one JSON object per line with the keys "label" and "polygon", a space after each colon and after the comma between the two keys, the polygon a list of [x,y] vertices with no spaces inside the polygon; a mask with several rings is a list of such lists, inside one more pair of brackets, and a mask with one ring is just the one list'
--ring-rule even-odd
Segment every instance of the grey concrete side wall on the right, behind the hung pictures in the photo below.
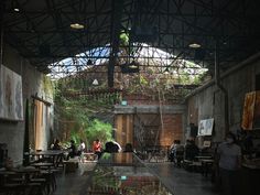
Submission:
{"label": "grey concrete side wall on the right, behind the hung pictures", "polygon": [[[260,74],[260,53],[220,75],[220,83],[228,91],[229,130],[234,132],[240,129],[246,93],[256,90],[257,74]],[[202,119],[214,118],[214,141],[221,141],[225,137],[224,97],[223,91],[210,82],[187,98],[187,122],[197,124]]]}

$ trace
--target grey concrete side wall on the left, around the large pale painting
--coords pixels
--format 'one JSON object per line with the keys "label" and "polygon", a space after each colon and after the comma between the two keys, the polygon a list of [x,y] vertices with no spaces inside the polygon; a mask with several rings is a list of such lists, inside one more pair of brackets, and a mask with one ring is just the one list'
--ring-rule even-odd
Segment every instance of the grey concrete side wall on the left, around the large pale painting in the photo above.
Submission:
{"label": "grey concrete side wall on the left, around the large pale painting", "polygon": [[[46,91],[43,79],[44,75],[24,59],[19,53],[8,45],[3,50],[3,65],[22,76],[23,90],[23,110],[25,116],[26,98],[32,102],[32,95],[37,95],[47,101],[53,101],[52,94]],[[44,91],[45,90],[45,91]],[[50,116],[53,108],[48,109]],[[50,122],[46,128],[52,128]],[[50,131],[45,133],[44,141],[50,137]],[[8,143],[9,156],[14,161],[14,164],[21,164],[23,158],[23,140],[24,140],[24,121],[4,121],[0,120],[0,143]],[[45,144],[45,143],[44,143]],[[43,145],[44,148],[46,147]]]}

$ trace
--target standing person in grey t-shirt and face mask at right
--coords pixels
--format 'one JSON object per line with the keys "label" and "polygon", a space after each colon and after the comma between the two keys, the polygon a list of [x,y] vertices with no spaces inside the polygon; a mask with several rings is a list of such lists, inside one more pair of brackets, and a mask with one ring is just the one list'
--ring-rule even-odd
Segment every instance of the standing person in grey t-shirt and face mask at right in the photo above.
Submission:
{"label": "standing person in grey t-shirt and face mask at right", "polygon": [[238,195],[239,170],[241,167],[241,149],[236,144],[236,137],[228,132],[226,141],[217,149],[219,178],[224,195]]}

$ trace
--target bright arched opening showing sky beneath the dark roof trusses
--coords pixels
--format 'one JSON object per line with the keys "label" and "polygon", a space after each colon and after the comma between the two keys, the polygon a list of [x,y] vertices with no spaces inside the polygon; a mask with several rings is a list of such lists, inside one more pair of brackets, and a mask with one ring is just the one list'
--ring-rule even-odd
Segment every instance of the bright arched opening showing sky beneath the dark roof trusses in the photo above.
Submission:
{"label": "bright arched opening showing sky beneath the dark roof trusses", "polygon": [[[198,64],[191,61],[176,59],[176,56],[145,43],[133,43],[132,47],[133,52],[131,52],[131,54],[126,55],[126,51],[124,53],[121,51],[118,54],[119,63],[134,59],[142,66],[156,67],[159,73],[164,73],[165,69],[167,69],[170,74],[188,75],[198,75],[207,72],[207,68],[203,68]],[[108,63],[109,55],[110,45],[76,54],[75,57],[68,57],[50,64],[48,68],[51,73],[48,76],[51,76],[52,79],[58,79],[93,68],[94,66],[104,65]]]}

